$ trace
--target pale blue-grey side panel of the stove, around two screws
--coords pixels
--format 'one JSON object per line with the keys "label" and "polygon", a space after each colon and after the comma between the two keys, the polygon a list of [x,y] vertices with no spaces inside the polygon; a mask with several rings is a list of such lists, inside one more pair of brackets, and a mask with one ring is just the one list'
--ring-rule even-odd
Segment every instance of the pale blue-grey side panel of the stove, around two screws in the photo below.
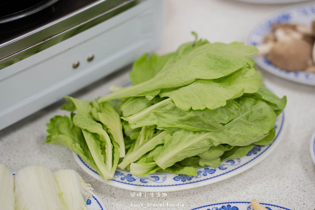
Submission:
{"label": "pale blue-grey side panel of the stove, around two screws", "polygon": [[152,52],[163,25],[164,2],[143,1],[0,70],[0,129]]}

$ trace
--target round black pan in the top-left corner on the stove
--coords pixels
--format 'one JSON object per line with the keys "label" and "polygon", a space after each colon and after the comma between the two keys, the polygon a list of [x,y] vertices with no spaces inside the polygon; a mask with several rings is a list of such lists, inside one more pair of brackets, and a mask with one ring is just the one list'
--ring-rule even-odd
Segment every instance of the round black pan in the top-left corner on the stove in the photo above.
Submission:
{"label": "round black pan in the top-left corner on the stove", "polygon": [[0,0],[0,23],[6,23],[41,11],[58,0]]}

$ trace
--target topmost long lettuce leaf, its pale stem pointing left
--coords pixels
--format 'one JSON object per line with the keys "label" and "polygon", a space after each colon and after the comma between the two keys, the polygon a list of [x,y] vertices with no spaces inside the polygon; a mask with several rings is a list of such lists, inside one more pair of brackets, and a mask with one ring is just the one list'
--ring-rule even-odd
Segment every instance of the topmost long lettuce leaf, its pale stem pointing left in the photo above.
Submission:
{"label": "topmost long lettuce leaf, its pale stem pointing left", "polygon": [[247,57],[257,52],[254,46],[243,43],[206,43],[163,69],[152,79],[140,84],[120,88],[114,93],[102,96],[104,102],[130,96],[155,96],[163,89],[186,86],[196,79],[217,79],[227,76],[245,66],[252,67],[254,61]]}

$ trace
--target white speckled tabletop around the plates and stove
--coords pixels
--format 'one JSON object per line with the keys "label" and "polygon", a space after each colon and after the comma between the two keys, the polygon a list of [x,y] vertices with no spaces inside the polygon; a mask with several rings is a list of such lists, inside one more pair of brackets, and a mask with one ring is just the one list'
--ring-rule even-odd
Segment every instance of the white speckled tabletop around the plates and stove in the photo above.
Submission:
{"label": "white speckled tabletop around the plates and stove", "polygon": [[[157,54],[172,52],[193,41],[191,31],[210,42],[245,42],[255,23],[290,4],[266,5],[234,0],[166,0],[164,41]],[[72,94],[93,100],[106,94],[110,85],[129,82],[130,66]],[[186,209],[217,201],[256,199],[296,210],[315,208],[315,166],[309,142],[315,129],[315,87],[290,82],[262,71],[266,84],[288,99],[285,108],[287,127],[277,148],[249,170],[232,178],[189,190],[167,192],[164,197],[131,197],[131,192],[104,184],[85,173],[72,152],[61,145],[45,143],[46,123],[55,115],[68,115],[58,101],[0,131],[0,163],[11,171],[29,165],[44,165],[52,171],[74,169],[92,184],[95,194],[110,209],[136,209],[130,203],[184,204]],[[148,192],[147,192],[148,193]],[[141,207],[140,207],[141,208]],[[139,209],[139,208],[138,208]],[[146,209],[159,209],[147,207]]]}

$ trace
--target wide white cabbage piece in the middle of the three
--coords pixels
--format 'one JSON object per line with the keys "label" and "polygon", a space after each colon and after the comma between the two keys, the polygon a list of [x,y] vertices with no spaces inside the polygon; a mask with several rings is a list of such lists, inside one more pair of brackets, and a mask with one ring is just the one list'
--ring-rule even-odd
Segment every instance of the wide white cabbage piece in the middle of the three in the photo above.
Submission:
{"label": "wide white cabbage piece in the middle of the three", "polygon": [[29,166],[14,175],[16,210],[63,210],[62,195],[48,167]]}

